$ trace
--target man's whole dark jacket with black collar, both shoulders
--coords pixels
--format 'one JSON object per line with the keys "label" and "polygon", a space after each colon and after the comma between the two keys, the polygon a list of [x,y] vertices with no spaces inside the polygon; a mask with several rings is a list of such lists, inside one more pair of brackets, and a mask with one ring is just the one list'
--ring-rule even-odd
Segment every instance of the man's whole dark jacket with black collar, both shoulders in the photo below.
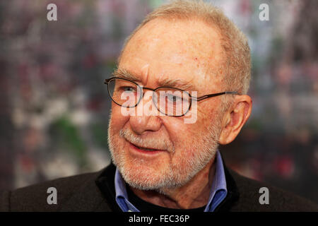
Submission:
{"label": "man's whole dark jacket with black collar, both shoulders", "polygon": [[[115,201],[114,165],[100,172],[54,179],[0,194],[0,211],[121,211]],[[318,211],[315,203],[225,167],[228,195],[216,211]],[[259,189],[269,189],[269,204],[259,203]],[[57,204],[47,203],[47,189],[57,189]]]}

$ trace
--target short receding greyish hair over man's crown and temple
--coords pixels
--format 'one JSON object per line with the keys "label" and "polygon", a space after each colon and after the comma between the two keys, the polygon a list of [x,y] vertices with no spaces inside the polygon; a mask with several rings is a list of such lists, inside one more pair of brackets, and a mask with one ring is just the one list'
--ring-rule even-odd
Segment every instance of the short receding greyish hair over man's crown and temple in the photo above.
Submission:
{"label": "short receding greyish hair over man's crown and temple", "polygon": [[[196,42],[191,43],[194,44],[193,48],[195,49],[198,45],[203,45],[202,43],[204,43],[204,52],[210,51],[212,53],[211,57],[218,57],[216,60],[221,63],[219,66],[222,66],[222,69],[218,70],[217,73],[223,73],[223,89],[236,90],[242,94],[247,93],[251,69],[247,38],[219,8],[207,4],[204,1],[172,1],[169,4],[156,8],[146,16],[143,22],[126,39],[122,53],[124,52],[124,49],[126,49],[126,44],[134,37],[136,32],[152,20],[158,18],[165,19],[168,21],[167,24],[175,26],[177,26],[177,21],[185,21],[189,24],[200,20],[206,24],[207,27],[212,28],[208,29],[208,31],[212,31],[207,34],[208,36],[211,35],[208,39],[204,37],[205,35],[201,35],[201,37],[196,36]],[[153,23],[153,26],[155,27],[155,23]],[[187,29],[186,36],[194,37],[198,30],[192,29]],[[206,34],[206,32],[204,33]],[[218,33],[218,40],[216,39],[216,33]],[[144,35],[147,35],[147,32],[144,32]],[[204,40],[201,40],[201,38],[211,42],[206,43]],[[213,51],[216,49],[216,42],[219,42],[222,46],[220,54],[213,54]],[[119,61],[122,57],[122,53],[119,56]],[[214,67],[207,71],[215,73],[216,69]]]}

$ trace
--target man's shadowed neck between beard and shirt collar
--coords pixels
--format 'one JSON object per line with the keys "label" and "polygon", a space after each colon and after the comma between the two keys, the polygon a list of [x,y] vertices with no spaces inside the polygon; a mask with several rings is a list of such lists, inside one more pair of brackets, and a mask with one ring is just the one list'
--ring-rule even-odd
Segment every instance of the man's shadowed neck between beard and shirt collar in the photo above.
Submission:
{"label": "man's shadowed neck between beard and shirt collar", "polygon": [[208,203],[210,190],[215,174],[213,157],[187,184],[174,189],[158,191],[144,191],[130,187],[139,198],[165,208],[190,209],[205,206]]}

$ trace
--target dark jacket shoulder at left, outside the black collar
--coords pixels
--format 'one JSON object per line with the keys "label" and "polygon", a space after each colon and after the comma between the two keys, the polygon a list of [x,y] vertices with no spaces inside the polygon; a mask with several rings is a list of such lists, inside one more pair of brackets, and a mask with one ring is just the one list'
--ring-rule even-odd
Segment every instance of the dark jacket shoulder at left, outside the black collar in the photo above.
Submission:
{"label": "dark jacket shoulder at left, outside the black collar", "polygon": [[[0,194],[0,211],[93,211],[105,201],[95,186],[99,173],[79,174],[4,191]],[[47,203],[50,187],[57,189],[57,204]]]}

